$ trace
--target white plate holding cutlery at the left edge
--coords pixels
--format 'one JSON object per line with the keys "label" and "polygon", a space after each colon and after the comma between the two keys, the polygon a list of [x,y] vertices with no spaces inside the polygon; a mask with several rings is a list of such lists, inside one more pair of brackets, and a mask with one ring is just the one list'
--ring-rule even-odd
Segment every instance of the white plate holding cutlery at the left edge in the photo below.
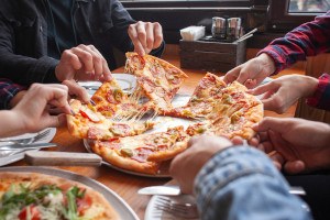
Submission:
{"label": "white plate holding cutlery at the left edge", "polygon": [[[48,128],[45,130],[50,130],[50,133],[44,136],[42,140],[38,140],[34,143],[48,143],[53,140],[53,138],[56,134],[56,129],[55,128]],[[43,130],[43,131],[45,131]],[[11,138],[6,138],[6,139],[0,139],[1,141],[8,141],[8,140],[20,140],[20,139],[29,139],[29,138],[33,138],[36,136],[38,133],[42,133],[43,131],[40,131],[37,133],[26,133],[26,134],[22,134],[19,136],[11,136]],[[38,150],[32,150],[32,151],[38,151]],[[16,161],[20,161],[22,158],[24,158],[24,154],[25,152],[18,152],[15,154],[12,154],[13,151],[0,151],[0,166],[4,166],[11,163],[14,163]],[[12,154],[12,155],[10,155]]]}

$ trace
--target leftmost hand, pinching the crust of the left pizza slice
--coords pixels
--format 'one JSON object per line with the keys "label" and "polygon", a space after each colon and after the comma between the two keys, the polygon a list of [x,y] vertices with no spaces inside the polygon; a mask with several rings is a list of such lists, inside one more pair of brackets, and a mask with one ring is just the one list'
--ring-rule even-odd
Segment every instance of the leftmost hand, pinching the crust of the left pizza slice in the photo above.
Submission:
{"label": "leftmost hand, pinching the crust of the left pizza slice", "polygon": [[[33,84],[22,100],[12,109],[21,132],[37,132],[48,127],[59,127],[65,122],[65,116],[51,116],[48,105],[61,108],[64,113],[70,113],[67,101],[68,88],[64,85]],[[15,123],[12,121],[12,123]],[[19,131],[18,131],[19,132]]]}

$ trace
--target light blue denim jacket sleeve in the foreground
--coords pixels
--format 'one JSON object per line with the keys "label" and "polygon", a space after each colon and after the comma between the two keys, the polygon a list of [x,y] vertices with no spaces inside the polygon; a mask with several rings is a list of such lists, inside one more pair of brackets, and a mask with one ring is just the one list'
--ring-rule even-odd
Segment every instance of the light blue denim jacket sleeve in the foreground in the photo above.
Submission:
{"label": "light blue denim jacket sleeve in the foreground", "polygon": [[244,146],[216,154],[195,180],[201,219],[311,219],[307,205],[288,190],[271,160]]}

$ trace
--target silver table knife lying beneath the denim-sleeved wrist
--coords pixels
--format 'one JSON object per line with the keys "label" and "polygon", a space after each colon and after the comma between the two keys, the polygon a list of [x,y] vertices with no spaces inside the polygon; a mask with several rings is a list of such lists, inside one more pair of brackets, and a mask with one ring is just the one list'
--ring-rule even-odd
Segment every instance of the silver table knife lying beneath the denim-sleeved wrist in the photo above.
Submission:
{"label": "silver table knife lying beneath the denim-sleeved wrist", "polygon": [[[292,186],[289,193],[293,195],[305,196],[306,191],[302,187]],[[138,194],[140,195],[162,195],[162,196],[179,196],[182,195],[178,186],[148,186],[141,188]]]}

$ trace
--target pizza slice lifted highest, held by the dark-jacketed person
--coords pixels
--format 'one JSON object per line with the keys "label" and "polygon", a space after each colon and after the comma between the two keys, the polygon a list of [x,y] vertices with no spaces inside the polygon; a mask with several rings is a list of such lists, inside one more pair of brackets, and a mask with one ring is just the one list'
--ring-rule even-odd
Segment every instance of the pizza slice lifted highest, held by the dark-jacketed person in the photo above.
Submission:
{"label": "pizza slice lifted highest, held by the dark-jacketed person", "polygon": [[127,53],[125,73],[135,75],[156,111],[172,109],[172,99],[188,76],[176,66],[152,55]]}

